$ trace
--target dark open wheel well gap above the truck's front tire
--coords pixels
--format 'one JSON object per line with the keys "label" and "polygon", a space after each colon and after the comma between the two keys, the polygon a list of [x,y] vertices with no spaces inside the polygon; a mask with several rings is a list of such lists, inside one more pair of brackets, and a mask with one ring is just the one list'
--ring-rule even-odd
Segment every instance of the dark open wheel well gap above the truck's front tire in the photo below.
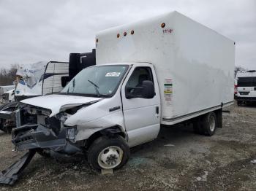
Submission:
{"label": "dark open wheel well gap above the truck's front tire", "polygon": [[94,140],[98,139],[101,136],[108,136],[108,137],[113,137],[115,135],[119,135],[123,137],[124,139],[127,138],[127,134],[124,133],[120,127],[114,126],[111,128],[105,128],[102,130],[97,131],[96,133],[93,133],[89,139],[86,140],[86,148],[90,147],[90,145],[94,142]]}

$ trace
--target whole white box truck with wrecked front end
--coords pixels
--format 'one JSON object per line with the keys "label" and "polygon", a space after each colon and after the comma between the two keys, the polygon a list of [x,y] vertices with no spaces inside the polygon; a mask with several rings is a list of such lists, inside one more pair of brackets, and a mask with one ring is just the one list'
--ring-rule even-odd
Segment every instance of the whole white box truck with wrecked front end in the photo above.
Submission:
{"label": "whole white box truck with wrecked front end", "polygon": [[192,120],[208,136],[233,104],[235,45],[170,12],[101,31],[96,66],[60,93],[21,101],[15,149],[87,154],[96,169],[120,168],[129,148],[157,138],[160,125]]}

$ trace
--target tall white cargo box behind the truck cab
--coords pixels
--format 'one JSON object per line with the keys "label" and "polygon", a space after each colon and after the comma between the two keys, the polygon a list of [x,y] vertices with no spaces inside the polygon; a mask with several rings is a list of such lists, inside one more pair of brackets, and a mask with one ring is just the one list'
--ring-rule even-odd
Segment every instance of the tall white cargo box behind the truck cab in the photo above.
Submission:
{"label": "tall white cargo box behind the truck cab", "polygon": [[97,64],[154,65],[163,124],[233,103],[235,43],[178,12],[110,28],[96,38]]}

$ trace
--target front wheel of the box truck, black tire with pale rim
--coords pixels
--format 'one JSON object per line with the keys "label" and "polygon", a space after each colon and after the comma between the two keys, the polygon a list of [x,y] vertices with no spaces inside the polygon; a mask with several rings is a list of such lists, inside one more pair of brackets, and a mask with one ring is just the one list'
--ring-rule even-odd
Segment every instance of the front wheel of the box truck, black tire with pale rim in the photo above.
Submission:
{"label": "front wheel of the box truck, black tire with pale rim", "polygon": [[128,159],[129,146],[121,136],[99,137],[89,147],[89,163],[97,170],[121,168]]}

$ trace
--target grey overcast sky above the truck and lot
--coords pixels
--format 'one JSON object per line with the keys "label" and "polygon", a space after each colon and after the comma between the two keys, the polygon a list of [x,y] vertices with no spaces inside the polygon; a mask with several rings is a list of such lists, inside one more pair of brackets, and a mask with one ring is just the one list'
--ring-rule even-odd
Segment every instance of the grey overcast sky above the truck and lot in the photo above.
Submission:
{"label": "grey overcast sky above the truck and lot", "polygon": [[105,28],[176,10],[236,42],[236,66],[256,69],[255,0],[0,0],[0,68],[68,61]]}

